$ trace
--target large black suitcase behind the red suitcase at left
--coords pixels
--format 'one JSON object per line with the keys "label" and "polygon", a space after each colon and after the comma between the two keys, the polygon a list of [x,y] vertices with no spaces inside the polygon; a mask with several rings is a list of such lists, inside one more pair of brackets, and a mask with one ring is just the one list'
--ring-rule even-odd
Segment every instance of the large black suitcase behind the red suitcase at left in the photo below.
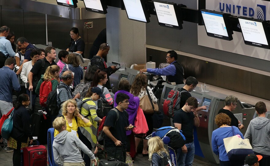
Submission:
{"label": "large black suitcase behind the red suitcase at left", "polygon": [[32,136],[37,137],[40,145],[47,143],[47,132],[51,127],[51,119],[42,112],[33,113],[30,117]]}

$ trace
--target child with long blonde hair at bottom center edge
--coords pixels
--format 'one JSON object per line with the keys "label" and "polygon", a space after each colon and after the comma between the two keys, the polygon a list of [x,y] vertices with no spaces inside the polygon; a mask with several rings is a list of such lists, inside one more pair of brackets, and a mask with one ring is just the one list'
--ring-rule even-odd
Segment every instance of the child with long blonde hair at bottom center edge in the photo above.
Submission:
{"label": "child with long blonde hair at bottom center edge", "polygon": [[168,165],[168,152],[164,148],[163,141],[160,137],[152,137],[148,140],[149,160],[152,166]]}

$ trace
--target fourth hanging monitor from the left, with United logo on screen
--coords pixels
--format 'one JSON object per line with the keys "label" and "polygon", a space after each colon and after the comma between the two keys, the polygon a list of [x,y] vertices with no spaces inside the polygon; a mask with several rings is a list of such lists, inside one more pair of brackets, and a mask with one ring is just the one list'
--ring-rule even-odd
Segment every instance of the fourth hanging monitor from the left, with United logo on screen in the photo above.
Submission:
{"label": "fourth hanging monitor from the left, with United logo on screen", "polygon": [[153,0],[157,21],[160,26],[183,29],[182,19],[176,3]]}

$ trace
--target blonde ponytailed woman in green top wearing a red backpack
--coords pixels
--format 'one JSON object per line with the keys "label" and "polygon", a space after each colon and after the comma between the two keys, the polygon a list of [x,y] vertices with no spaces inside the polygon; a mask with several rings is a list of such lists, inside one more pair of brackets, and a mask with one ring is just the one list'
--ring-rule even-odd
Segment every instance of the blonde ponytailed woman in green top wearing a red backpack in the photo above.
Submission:
{"label": "blonde ponytailed woman in green top wearing a red backpack", "polygon": [[36,88],[36,94],[39,95],[40,93],[40,86],[43,81],[51,81],[52,82],[52,90],[56,89],[58,83],[60,82],[59,79],[59,74],[60,74],[60,67],[57,65],[52,65],[49,66],[44,75],[41,75],[41,79],[37,83],[37,88]]}

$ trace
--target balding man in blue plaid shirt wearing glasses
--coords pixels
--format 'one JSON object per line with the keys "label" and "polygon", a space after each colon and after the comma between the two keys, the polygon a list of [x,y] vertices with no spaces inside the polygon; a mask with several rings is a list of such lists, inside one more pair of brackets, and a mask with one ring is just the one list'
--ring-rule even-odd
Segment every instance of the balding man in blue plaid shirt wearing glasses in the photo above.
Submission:
{"label": "balding man in blue plaid shirt wearing glasses", "polygon": [[73,82],[74,80],[74,75],[72,74],[71,70],[67,70],[63,73],[62,75],[62,81],[58,84],[57,86],[57,106],[60,108],[58,117],[62,116],[62,108],[61,104],[69,99],[76,99],[80,98],[80,94],[77,93],[75,96],[72,95],[71,89],[69,85]]}

